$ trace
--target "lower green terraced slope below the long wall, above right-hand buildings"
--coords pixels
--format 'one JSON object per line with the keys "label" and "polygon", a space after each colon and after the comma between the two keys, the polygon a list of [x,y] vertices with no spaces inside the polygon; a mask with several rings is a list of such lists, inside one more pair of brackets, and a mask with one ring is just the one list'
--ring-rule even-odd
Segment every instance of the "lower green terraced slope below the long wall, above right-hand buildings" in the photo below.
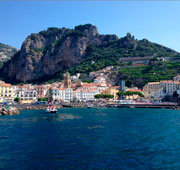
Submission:
{"label": "lower green terraced slope below the long wall, above right-hand buildings", "polygon": [[124,67],[119,70],[126,78],[126,85],[142,87],[148,82],[171,80],[180,73],[180,62],[158,62],[148,66]]}

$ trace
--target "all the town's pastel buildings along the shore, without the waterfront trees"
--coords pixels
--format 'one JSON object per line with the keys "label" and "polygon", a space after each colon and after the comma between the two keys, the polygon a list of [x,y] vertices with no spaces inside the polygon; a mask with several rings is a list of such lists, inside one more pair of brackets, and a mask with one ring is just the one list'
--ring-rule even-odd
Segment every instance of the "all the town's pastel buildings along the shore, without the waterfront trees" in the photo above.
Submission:
{"label": "all the town's pastel buildings along the shore, without the waterfront trees", "polygon": [[[111,94],[116,100],[119,91],[141,92],[145,99],[159,101],[165,96],[173,96],[175,92],[180,95],[180,75],[174,77],[173,80],[149,82],[143,89],[127,88],[124,80],[119,82],[119,86],[111,86],[106,82],[104,73],[112,68],[107,67],[97,72],[91,72],[90,77],[94,79],[92,83],[83,83],[79,78],[80,74],[70,76],[69,73],[64,74],[63,82],[53,84],[13,86],[0,81],[0,103],[13,102],[15,98],[19,98],[21,103],[33,103],[39,98],[57,102],[93,101],[96,94]],[[139,96],[126,96],[126,98],[137,99]]]}

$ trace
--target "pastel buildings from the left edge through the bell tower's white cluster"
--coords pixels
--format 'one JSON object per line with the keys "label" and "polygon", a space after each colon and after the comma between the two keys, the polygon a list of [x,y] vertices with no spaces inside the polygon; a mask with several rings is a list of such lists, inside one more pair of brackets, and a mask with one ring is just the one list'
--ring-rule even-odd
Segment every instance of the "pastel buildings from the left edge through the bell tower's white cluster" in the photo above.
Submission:
{"label": "pastel buildings from the left edge through the bell tower's white cluster", "polygon": [[15,98],[19,98],[21,103],[33,103],[39,98],[64,102],[92,101],[96,94],[100,94],[110,87],[104,77],[96,77],[93,83],[83,83],[79,76],[79,74],[70,76],[69,73],[65,73],[63,82],[44,85],[13,86],[1,81],[0,103],[13,102]]}

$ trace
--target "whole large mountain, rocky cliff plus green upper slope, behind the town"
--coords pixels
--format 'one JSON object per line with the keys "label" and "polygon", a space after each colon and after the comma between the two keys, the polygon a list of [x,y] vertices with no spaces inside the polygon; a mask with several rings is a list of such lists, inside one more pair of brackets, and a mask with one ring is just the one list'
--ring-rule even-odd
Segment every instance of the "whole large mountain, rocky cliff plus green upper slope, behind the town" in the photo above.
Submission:
{"label": "whole large mountain, rocky cliff plus green upper slope, behind the town", "polygon": [[[123,38],[101,35],[96,26],[79,25],[74,29],[48,28],[29,35],[21,50],[1,69],[9,82],[31,82],[69,70],[89,73],[109,65],[119,65],[122,57],[176,57],[179,53],[130,33]],[[74,69],[74,70],[73,70]]]}

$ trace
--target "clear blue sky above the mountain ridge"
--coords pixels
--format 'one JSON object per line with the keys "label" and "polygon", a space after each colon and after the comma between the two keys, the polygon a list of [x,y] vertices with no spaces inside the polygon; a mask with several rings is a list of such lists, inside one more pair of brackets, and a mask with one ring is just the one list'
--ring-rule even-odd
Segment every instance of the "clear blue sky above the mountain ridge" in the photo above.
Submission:
{"label": "clear blue sky above the mountain ridge", "polygon": [[21,48],[31,33],[91,23],[100,34],[164,45],[180,52],[180,1],[0,0],[0,42]]}

